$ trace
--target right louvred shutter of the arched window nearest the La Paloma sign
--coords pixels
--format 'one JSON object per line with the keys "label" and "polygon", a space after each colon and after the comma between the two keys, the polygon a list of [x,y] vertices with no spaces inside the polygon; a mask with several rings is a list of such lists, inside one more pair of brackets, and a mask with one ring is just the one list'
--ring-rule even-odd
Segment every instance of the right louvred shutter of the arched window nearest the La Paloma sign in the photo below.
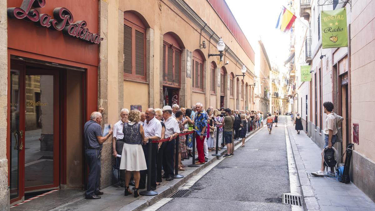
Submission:
{"label": "right louvred shutter of the arched window nearest the La Paloma sign", "polygon": [[144,33],[135,30],[135,75],[145,75]]}

